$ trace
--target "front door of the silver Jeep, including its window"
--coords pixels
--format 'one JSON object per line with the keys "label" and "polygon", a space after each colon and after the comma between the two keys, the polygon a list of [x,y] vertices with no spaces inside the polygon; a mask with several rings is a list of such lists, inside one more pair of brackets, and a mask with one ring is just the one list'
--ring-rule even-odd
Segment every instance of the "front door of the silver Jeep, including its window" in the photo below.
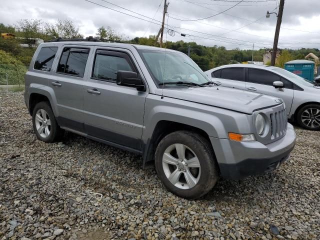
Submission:
{"label": "front door of the silver Jeep, including its window", "polygon": [[118,70],[139,72],[133,56],[123,49],[96,47],[91,69],[84,86],[86,133],[125,147],[141,149],[147,93],[116,84]]}

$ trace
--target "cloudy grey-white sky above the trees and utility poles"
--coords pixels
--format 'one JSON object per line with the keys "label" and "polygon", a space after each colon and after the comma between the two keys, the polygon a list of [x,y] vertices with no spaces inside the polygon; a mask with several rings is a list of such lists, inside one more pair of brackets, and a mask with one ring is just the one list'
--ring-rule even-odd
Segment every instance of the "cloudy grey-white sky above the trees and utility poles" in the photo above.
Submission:
{"label": "cloudy grey-white sky above the trees and utility poles", "polygon": [[[227,49],[252,49],[252,44],[254,49],[272,47],[277,17],[271,14],[266,18],[265,14],[267,10],[277,12],[279,0],[167,2],[164,41],[195,41]],[[128,38],[142,37],[158,32],[163,3],[164,0],[1,0],[0,22],[13,25],[23,18],[49,23],[69,19],[84,36],[94,36],[99,26],[110,26]],[[278,47],[320,48],[320,0],[285,0]]]}

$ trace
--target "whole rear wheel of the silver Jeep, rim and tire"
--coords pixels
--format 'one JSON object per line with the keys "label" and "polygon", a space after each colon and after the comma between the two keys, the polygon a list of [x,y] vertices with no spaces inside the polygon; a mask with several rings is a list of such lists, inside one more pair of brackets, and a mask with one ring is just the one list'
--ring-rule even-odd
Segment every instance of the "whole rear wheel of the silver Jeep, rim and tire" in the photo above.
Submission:
{"label": "whole rear wheel of the silver Jeep, rim and tire", "polygon": [[37,138],[44,142],[59,139],[62,129],[57,124],[53,111],[46,101],[38,102],[32,112],[32,125]]}

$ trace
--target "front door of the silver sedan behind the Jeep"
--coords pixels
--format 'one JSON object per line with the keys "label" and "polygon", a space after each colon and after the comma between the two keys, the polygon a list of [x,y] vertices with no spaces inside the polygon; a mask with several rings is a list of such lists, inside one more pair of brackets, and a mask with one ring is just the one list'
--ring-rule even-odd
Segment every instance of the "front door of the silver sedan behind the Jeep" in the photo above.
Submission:
{"label": "front door of the silver sedan behind the Jeep", "polygon": [[[284,88],[275,88],[274,81],[282,81]],[[291,81],[267,70],[247,68],[245,87],[249,91],[282,98],[286,113],[289,114],[293,100],[293,84]]]}

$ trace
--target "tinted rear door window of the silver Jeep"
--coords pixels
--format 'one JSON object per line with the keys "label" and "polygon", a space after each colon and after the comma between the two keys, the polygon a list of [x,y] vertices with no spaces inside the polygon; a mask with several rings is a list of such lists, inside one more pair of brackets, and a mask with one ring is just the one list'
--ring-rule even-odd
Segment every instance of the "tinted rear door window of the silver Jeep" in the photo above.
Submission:
{"label": "tinted rear door window of the silver Jeep", "polygon": [[58,64],[58,72],[82,77],[89,49],[64,47]]}

